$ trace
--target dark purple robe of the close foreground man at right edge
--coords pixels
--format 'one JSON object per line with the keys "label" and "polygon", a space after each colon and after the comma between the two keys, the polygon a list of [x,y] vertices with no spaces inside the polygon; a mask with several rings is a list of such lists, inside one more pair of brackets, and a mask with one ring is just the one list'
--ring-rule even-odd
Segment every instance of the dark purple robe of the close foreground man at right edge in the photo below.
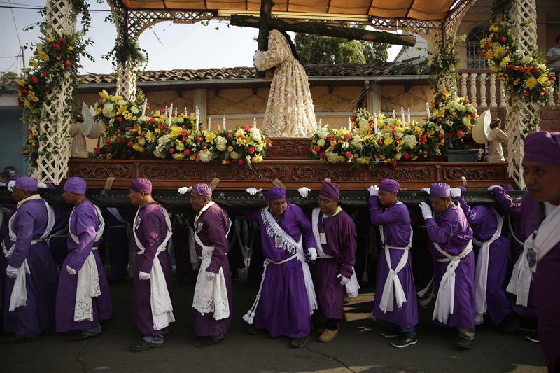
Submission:
{"label": "dark purple robe of the close foreground man at right edge", "polygon": [[[521,201],[523,225],[526,235],[538,230],[545,218],[544,206],[536,202],[531,192],[526,192]],[[558,222],[560,225],[560,222]],[[545,353],[549,372],[560,372],[560,243],[556,244],[537,262],[533,274],[537,307],[537,332],[542,351]]]}

